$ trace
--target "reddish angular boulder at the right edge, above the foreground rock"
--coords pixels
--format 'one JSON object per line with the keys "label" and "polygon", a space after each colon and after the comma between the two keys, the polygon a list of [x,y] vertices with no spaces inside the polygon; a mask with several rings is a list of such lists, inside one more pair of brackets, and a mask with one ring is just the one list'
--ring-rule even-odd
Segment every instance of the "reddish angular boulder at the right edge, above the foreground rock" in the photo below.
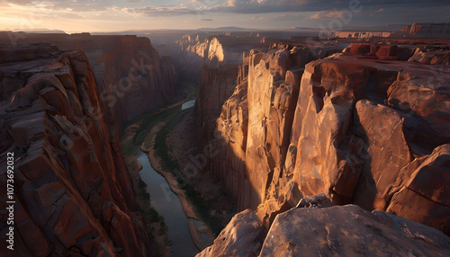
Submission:
{"label": "reddish angular boulder at the right edge, above the foreground rock", "polygon": [[393,189],[397,192],[386,211],[436,227],[450,235],[449,160],[450,145],[446,144],[403,168],[401,172],[411,175],[400,190]]}

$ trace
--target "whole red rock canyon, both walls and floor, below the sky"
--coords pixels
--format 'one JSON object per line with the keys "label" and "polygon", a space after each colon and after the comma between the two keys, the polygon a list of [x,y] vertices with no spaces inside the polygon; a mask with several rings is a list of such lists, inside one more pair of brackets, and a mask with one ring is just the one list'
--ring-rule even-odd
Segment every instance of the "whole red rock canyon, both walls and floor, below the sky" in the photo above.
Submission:
{"label": "whole red rock canyon, both walls and floor, below the sky", "polygon": [[140,180],[138,156],[205,224],[185,229],[197,256],[448,256],[450,41],[418,39],[448,34],[428,27],[192,32],[163,46],[1,32],[12,256],[169,256],[166,235],[149,231],[165,226],[148,224],[155,200],[139,191],[156,183]]}

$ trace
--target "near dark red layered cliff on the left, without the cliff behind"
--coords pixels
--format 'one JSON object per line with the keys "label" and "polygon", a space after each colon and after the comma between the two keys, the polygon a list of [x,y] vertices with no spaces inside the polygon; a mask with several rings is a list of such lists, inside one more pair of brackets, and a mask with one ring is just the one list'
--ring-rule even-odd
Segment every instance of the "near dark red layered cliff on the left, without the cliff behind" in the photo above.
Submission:
{"label": "near dark red layered cliff on the left, without the cliff behind", "polygon": [[[0,55],[15,57],[0,64],[0,187],[6,188],[6,155],[14,153],[14,254],[151,255],[120,129],[85,54],[25,45]],[[6,191],[1,199],[5,209]]]}

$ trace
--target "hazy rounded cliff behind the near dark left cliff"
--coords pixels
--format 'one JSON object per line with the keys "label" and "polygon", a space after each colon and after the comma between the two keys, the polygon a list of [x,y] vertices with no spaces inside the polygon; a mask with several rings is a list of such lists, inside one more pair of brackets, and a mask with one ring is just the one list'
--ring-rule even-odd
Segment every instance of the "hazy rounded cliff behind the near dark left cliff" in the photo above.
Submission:
{"label": "hazy rounded cliff behind the near dark left cliff", "polygon": [[[22,35],[22,34],[21,34]],[[80,34],[1,35],[0,43],[40,44],[49,42],[61,50],[81,50],[88,58],[100,93],[120,125],[174,102],[179,89],[172,58],[159,57],[148,38],[136,36],[91,36]],[[23,49],[22,51],[30,51]],[[33,54],[46,51],[33,50]],[[23,53],[23,56],[28,55]],[[14,60],[14,57],[13,57]]]}

